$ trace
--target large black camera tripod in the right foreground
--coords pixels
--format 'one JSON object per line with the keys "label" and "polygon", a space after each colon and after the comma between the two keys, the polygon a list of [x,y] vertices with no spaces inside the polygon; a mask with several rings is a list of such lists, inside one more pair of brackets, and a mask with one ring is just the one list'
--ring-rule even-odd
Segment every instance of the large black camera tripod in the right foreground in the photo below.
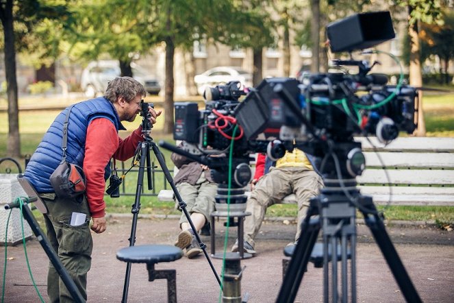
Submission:
{"label": "large black camera tripod in the right foreground", "polygon": [[[359,144],[359,143],[358,143]],[[342,149],[342,147],[340,148]],[[363,196],[357,189],[355,178],[351,177],[346,161],[340,162],[343,151],[336,149],[329,155],[327,173],[323,180],[325,189],[320,195],[311,199],[309,210],[301,223],[301,237],[294,247],[294,252],[279,291],[276,302],[294,302],[299,285],[320,229],[323,230],[323,297],[329,302],[330,281],[329,261],[331,260],[331,298],[332,302],[348,302],[349,289],[351,302],[356,297],[356,210],[364,215],[364,221],[379,245],[379,248],[390,267],[394,278],[407,302],[422,302],[410,280],[399,255],[392,245],[383,220],[373,204],[372,197]],[[342,165],[342,167],[341,167]],[[329,256],[331,245],[331,256]],[[340,282],[338,292],[338,246],[340,245]],[[348,268],[349,254],[351,257]],[[350,278],[350,285],[349,285]]]}

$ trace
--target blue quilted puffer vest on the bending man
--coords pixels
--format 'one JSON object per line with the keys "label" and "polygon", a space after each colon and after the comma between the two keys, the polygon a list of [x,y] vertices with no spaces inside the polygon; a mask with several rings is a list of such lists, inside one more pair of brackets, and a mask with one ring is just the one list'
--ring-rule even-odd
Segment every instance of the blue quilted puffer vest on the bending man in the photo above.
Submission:
{"label": "blue quilted puffer vest on the bending man", "polygon": [[[49,178],[62,160],[63,123],[69,108],[64,109],[53,121],[49,130],[42,138],[40,145],[25,169],[25,178],[33,184],[38,193],[53,193]],[[125,130],[120,117],[108,99],[98,97],[80,102],[73,106],[69,115],[68,145],[66,160],[79,165],[84,164],[85,141],[87,128],[95,118],[107,118],[114,123],[116,131]],[[105,179],[110,175],[110,165],[105,167]]]}

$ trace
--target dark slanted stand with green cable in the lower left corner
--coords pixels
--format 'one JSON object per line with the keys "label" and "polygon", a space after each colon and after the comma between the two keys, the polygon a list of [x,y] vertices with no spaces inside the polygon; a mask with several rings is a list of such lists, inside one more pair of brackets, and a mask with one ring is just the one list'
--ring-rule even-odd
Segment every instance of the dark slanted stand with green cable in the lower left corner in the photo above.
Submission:
{"label": "dark slanted stand with green cable in the lower left corner", "polygon": [[[29,197],[29,202],[39,201],[39,203],[42,204],[42,201],[38,199],[39,199],[38,196]],[[19,203],[12,202],[10,204],[5,205],[5,209],[10,208],[19,208]],[[73,279],[71,278],[71,276],[69,276],[68,271],[66,271],[66,269],[64,268],[62,261],[60,260],[60,258],[58,258],[58,255],[55,253],[55,250],[53,250],[51,243],[49,243],[49,240],[45,236],[44,232],[42,232],[33,213],[31,213],[30,208],[26,204],[24,204],[22,207],[22,214],[25,220],[27,220],[27,222],[29,223],[29,226],[33,233],[35,234],[36,239],[38,239],[38,241],[40,242],[42,249],[46,252],[47,257],[49,257],[49,260],[51,260],[53,267],[55,267],[55,270],[58,272],[58,275],[60,276],[60,278],[62,278],[64,285],[68,289],[69,293],[71,293],[71,296],[73,297],[74,301],[80,303],[85,302]]]}

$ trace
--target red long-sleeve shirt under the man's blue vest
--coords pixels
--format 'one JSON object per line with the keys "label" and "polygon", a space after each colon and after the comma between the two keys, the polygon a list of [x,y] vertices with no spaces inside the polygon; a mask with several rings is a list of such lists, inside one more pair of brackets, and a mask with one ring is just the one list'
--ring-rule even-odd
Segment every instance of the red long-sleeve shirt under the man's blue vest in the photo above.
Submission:
{"label": "red long-sleeve shirt under the man's blue vest", "polygon": [[106,118],[90,122],[85,142],[84,173],[87,178],[86,195],[92,217],[105,215],[104,169],[110,158],[127,160],[134,156],[136,147],[142,141],[142,127],[124,140],[118,136],[115,125]]}

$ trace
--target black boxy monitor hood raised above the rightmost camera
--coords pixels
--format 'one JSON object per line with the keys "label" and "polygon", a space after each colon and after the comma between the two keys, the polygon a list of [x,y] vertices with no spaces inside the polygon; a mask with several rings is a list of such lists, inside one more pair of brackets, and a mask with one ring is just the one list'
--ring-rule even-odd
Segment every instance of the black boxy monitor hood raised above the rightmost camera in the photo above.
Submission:
{"label": "black boxy monitor hood raised above the rightmost camera", "polygon": [[354,51],[374,47],[393,39],[390,12],[364,12],[354,14],[327,26],[331,51]]}

